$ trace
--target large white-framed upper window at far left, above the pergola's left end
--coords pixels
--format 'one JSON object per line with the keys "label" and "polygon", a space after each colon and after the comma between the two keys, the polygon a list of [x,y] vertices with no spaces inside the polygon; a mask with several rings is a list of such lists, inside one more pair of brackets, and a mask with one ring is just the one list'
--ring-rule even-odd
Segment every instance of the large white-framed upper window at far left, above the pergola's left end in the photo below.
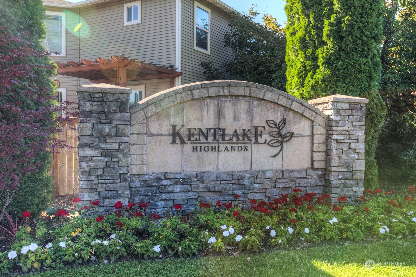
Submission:
{"label": "large white-framed upper window at far left, above the pergola's left end", "polygon": [[45,51],[58,53],[51,56],[65,56],[65,13],[46,12],[45,25],[47,34],[42,42]]}

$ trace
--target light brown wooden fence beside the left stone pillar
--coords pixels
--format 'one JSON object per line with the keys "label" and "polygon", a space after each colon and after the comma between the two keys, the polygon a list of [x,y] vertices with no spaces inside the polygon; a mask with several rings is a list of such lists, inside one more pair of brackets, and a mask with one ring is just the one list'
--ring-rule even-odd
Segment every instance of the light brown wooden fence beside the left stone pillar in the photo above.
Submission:
{"label": "light brown wooden fence beside the left stone pillar", "polygon": [[74,146],[74,149],[54,149],[52,155],[51,176],[54,180],[55,196],[76,196],[78,194],[78,118],[72,118],[73,122],[63,123],[59,127],[64,129],[58,134],[59,140],[66,140],[67,145]]}

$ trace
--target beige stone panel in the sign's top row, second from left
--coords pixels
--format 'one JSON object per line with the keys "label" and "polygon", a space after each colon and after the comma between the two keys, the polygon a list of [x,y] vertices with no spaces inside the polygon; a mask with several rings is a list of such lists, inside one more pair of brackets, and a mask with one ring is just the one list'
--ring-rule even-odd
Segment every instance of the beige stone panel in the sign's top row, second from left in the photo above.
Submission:
{"label": "beige stone panel in the sign's top row, second from left", "polygon": [[186,128],[201,128],[204,132],[206,128],[218,128],[218,100],[203,98],[186,101],[183,103],[183,116],[183,124],[186,124],[183,134],[188,134]]}

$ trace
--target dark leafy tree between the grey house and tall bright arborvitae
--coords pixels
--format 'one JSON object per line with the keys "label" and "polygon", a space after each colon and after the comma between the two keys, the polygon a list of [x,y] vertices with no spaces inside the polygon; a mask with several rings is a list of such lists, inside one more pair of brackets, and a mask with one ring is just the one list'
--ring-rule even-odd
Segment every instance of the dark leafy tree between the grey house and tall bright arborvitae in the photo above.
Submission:
{"label": "dark leafy tree between the grey house and tall bright arborvitae", "polygon": [[271,15],[263,15],[264,25],[253,22],[259,13],[253,6],[248,15],[233,15],[224,44],[234,61],[221,64],[203,62],[207,80],[231,79],[260,83],[284,90],[286,77],[285,30]]}

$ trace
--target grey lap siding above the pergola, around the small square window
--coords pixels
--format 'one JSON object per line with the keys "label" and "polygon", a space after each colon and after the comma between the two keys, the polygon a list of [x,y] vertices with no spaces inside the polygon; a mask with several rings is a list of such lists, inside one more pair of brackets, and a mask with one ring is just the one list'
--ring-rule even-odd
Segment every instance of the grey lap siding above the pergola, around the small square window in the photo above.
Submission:
{"label": "grey lap siding above the pergola, around the small square window", "polygon": [[89,28],[80,39],[82,59],[124,54],[161,65],[175,65],[175,0],[142,0],[141,24],[124,26],[124,4],[104,2],[81,7],[82,22]]}

